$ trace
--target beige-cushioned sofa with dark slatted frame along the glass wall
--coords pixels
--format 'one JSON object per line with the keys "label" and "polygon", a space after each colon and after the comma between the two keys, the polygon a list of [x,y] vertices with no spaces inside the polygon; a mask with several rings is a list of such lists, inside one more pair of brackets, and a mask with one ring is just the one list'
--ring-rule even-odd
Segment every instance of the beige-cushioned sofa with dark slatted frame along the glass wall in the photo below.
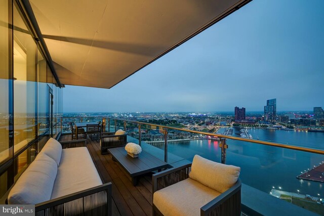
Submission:
{"label": "beige-cushioned sofa with dark slatted frame along the glass wall", "polygon": [[51,138],[11,189],[8,203],[35,204],[36,215],[111,215],[111,183],[102,184],[86,142]]}

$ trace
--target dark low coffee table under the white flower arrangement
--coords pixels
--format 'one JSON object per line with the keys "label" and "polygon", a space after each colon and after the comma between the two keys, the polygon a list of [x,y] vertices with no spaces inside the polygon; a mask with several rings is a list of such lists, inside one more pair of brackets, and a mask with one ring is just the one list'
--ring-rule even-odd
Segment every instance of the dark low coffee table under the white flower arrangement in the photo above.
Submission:
{"label": "dark low coffee table under the white flower arrangement", "polygon": [[137,177],[154,170],[160,171],[162,168],[168,168],[168,163],[144,151],[135,158],[127,154],[125,147],[111,148],[107,151],[131,176],[134,186],[137,185]]}

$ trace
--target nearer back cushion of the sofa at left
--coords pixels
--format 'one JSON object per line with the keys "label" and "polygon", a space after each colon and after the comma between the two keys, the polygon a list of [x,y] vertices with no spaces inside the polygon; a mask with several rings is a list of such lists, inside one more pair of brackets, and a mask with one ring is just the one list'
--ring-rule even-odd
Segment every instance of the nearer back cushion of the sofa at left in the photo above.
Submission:
{"label": "nearer back cushion of the sofa at left", "polygon": [[51,198],[57,175],[57,163],[39,153],[27,167],[8,195],[9,204],[37,204]]}

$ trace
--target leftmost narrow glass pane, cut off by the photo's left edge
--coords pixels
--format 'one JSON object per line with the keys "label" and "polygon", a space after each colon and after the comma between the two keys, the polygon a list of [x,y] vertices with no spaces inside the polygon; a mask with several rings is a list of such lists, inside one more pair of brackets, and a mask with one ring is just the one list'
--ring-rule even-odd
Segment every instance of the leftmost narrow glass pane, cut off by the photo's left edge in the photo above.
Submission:
{"label": "leftmost narrow glass pane, cut off by the photo's left edge", "polygon": [[0,1],[0,201],[13,184],[12,2]]}

